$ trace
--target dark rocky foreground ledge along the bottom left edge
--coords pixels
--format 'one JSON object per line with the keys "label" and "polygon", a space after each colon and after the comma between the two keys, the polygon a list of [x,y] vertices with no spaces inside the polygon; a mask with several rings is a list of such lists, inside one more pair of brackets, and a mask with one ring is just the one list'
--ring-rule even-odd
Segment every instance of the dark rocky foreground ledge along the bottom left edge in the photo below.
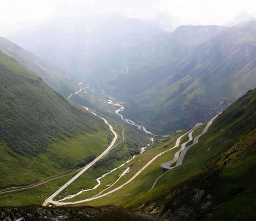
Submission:
{"label": "dark rocky foreground ledge along the bottom left edge", "polygon": [[143,214],[122,207],[61,207],[48,208],[41,206],[6,207],[0,208],[0,220],[3,221],[30,221],[30,220],[131,220],[155,221],[159,220],[152,215]]}

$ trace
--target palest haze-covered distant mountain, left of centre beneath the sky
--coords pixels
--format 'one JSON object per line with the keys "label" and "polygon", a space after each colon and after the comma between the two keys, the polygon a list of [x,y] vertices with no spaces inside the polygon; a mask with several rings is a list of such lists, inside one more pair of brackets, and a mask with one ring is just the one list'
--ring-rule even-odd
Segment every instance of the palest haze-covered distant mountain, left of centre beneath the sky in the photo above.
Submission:
{"label": "palest haze-covered distant mountain, left of centre beneath the sky", "polygon": [[31,29],[8,38],[84,83],[113,77],[111,71],[122,67],[135,46],[162,32],[148,21],[120,14],[55,20]]}

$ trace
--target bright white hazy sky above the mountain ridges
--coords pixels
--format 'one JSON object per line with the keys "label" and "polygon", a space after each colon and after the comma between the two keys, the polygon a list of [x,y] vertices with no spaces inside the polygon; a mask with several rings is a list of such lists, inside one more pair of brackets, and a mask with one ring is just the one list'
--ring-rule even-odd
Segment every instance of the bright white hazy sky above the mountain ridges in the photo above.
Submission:
{"label": "bright white hazy sky above the mountain ridges", "polygon": [[17,28],[62,17],[114,13],[152,19],[158,13],[178,18],[183,25],[222,25],[240,12],[256,15],[256,1],[243,0],[2,0],[0,36]]}

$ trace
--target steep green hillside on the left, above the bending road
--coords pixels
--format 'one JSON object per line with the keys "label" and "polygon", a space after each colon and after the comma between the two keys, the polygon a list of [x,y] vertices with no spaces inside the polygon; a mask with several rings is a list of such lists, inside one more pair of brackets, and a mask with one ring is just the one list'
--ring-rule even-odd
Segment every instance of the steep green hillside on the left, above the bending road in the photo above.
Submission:
{"label": "steep green hillside on the left, above the bending road", "polygon": [[0,188],[74,169],[101,153],[112,136],[101,119],[0,52]]}

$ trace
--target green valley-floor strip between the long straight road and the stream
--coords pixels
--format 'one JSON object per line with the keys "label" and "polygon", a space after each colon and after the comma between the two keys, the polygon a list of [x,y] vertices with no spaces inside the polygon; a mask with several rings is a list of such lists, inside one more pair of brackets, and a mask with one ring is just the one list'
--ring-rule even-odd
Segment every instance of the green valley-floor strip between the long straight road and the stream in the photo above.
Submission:
{"label": "green valley-floor strip between the long straight road and the stream", "polygon": [[[59,196],[58,200],[69,194],[75,194],[81,189],[93,188],[97,182],[96,178],[100,177],[102,174],[109,172],[110,170],[120,166],[127,160],[130,160],[135,154],[139,154],[140,148],[145,146],[150,141],[145,139],[143,136],[138,135],[136,132],[129,128],[125,128],[124,131],[124,142],[117,145],[104,159],[97,162],[92,168],[88,170],[86,174],[80,176],[80,178],[72,183],[68,188],[66,188]],[[139,156],[136,156],[138,158]],[[132,164],[132,163],[131,163]],[[131,165],[130,164],[130,165]],[[87,192],[90,195],[98,193],[100,190],[105,188],[105,185],[113,183],[118,177],[120,171],[122,171],[127,166],[125,165],[121,169],[107,175],[105,178],[101,179],[102,184],[95,191]],[[82,194],[78,198],[87,197],[88,194]],[[72,200],[76,200],[75,198]]]}

